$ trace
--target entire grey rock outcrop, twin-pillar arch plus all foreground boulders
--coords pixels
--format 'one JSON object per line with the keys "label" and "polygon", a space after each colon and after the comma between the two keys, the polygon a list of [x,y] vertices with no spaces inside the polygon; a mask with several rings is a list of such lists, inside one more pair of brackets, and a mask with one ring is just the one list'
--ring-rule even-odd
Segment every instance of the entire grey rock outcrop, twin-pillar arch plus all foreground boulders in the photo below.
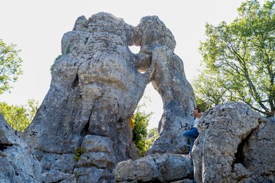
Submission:
{"label": "entire grey rock outcrop, twin-pillar arch plus all foreground boulders", "polygon": [[[274,119],[243,103],[208,109],[193,162],[179,154],[189,150],[181,134],[195,97],[173,34],[157,17],[136,27],[104,12],[79,17],[61,48],[50,90],[23,135],[0,116],[2,182],[275,182]],[[164,114],[159,138],[140,158],[129,117],[150,82]]]}

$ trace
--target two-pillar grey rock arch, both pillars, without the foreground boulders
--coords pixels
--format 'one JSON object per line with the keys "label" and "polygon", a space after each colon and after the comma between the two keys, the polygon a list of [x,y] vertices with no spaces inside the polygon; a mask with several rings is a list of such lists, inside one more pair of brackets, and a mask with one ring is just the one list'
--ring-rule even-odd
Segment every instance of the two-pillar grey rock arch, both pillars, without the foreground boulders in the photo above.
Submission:
{"label": "two-pillar grey rock arch, both pillars, without the foreground boulders", "polygon": [[[129,45],[140,46],[140,53]],[[188,151],[180,131],[192,122],[195,98],[173,54],[173,34],[162,21],[144,17],[134,28],[103,12],[79,17],[61,47],[50,90],[25,130],[44,182],[112,182],[118,162],[140,158],[129,117],[151,81],[164,101],[164,115],[150,152]]]}

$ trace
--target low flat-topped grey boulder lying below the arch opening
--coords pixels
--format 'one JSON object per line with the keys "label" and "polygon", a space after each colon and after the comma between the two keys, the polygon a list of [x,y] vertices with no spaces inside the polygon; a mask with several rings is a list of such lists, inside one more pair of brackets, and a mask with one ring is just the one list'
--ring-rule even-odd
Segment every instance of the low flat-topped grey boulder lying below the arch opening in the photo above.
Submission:
{"label": "low flat-topped grey boulder lying below the arch opening", "polygon": [[165,153],[118,163],[113,170],[115,182],[190,182],[192,160],[186,155]]}

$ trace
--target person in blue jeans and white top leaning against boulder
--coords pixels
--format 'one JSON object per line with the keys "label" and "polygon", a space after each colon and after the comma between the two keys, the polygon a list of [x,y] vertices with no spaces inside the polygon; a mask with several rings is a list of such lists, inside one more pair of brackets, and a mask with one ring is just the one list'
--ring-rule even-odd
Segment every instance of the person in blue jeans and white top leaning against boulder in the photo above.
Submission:
{"label": "person in blue jeans and white top leaning against boulder", "polygon": [[199,131],[197,130],[197,125],[198,125],[199,119],[202,116],[201,110],[199,108],[195,108],[193,114],[196,118],[193,122],[192,128],[183,133],[183,136],[185,138],[190,139],[190,142],[191,142],[190,151],[189,151],[188,156],[192,156],[192,147],[194,145],[194,141],[196,140],[197,136],[199,136]]}

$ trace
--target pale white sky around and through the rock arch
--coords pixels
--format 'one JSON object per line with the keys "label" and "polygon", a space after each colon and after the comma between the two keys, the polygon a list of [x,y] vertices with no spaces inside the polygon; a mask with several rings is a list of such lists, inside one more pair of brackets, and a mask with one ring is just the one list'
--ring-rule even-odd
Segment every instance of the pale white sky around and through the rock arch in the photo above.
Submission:
{"label": "pale white sky around and through the rock arch", "polygon": [[[243,0],[9,0],[1,1],[0,39],[17,45],[23,58],[23,75],[11,92],[0,95],[0,102],[26,105],[28,99],[39,100],[50,89],[50,66],[61,54],[63,34],[74,28],[76,19],[87,19],[98,12],[109,12],[136,26],[140,19],[156,15],[175,36],[175,54],[184,62],[186,78],[191,82],[199,73],[199,42],[206,39],[206,22],[218,25],[232,22]],[[138,52],[138,47],[133,52]],[[146,87],[151,98],[145,111],[153,111],[148,129],[157,127],[163,105],[152,85]]]}

